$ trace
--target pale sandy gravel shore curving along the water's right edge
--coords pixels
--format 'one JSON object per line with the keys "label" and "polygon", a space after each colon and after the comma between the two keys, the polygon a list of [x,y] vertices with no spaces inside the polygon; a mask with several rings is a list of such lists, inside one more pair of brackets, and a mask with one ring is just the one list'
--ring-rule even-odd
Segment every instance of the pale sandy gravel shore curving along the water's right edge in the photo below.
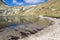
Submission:
{"label": "pale sandy gravel shore curving along the water's right edge", "polygon": [[[44,17],[49,18],[49,17]],[[55,22],[54,25],[51,25],[50,27],[39,31],[35,35],[31,35],[28,38],[25,39],[19,39],[19,40],[60,40],[60,19],[56,18],[49,18],[50,20],[53,20]]]}

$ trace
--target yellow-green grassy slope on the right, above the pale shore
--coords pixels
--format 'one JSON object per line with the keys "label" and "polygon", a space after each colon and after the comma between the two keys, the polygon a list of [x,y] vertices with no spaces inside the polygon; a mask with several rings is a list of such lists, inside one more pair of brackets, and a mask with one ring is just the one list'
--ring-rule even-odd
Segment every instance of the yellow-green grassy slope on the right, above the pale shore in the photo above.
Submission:
{"label": "yellow-green grassy slope on the right, above the pale shore", "polygon": [[60,17],[60,0],[49,0],[46,3],[39,4],[34,10],[27,15],[44,15],[52,17]]}

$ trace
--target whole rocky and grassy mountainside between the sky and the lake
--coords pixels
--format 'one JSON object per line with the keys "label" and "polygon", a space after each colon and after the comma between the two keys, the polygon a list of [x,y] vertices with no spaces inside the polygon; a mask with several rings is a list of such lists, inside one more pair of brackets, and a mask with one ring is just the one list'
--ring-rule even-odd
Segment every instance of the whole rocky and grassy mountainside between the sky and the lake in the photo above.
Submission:
{"label": "whole rocky and grassy mountainside between the sky and the lake", "polygon": [[[20,15],[21,12],[24,16],[25,15],[34,15],[34,16],[38,16],[38,15],[44,15],[44,16],[53,16],[53,17],[60,17],[60,0],[49,0],[48,2],[39,4],[37,6],[15,6],[15,7],[9,7],[7,5],[4,5],[1,1],[0,1],[0,9],[3,10],[9,10],[10,13],[7,14],[7,16],[14,16],[14,15]],[[33,9],[32,9],[33,8]],[[27,10],[24,10],[27,9]],[[31,9],[31,10],[30,10]],[[24,10],[24,11],[23,11]],[[30,10],[30,11],[29,11]],[[28,11],[28,12],[26,12]],[[17,13],[16,13],[17,12]]]}

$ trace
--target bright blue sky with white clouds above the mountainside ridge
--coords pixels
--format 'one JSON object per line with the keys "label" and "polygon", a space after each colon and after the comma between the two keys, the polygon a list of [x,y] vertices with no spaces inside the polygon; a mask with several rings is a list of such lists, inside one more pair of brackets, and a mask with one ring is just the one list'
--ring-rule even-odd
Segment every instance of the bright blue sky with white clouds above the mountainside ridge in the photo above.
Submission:
{"label": "bright blue sky with white clouds above the mountainside ridge", "polygon": [[48,0],[3,0],[3,2],[8,6],[28,6],[37,5]]}

